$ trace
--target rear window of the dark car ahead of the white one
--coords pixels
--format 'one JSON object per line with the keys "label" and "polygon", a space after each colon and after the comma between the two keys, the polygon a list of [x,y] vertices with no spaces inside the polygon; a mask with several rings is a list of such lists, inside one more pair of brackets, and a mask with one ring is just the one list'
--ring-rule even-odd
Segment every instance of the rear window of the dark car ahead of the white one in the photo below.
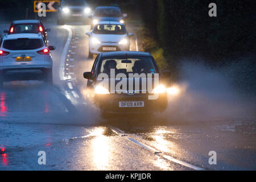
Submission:
{"label": "rear window of the dark car ahead of the white one", "polygon": [[39,32],[39,26],[37,23],[26,23],[26,24],[14,24],[14,30],[12,34],[22,34],[22,33],[34,33]]}

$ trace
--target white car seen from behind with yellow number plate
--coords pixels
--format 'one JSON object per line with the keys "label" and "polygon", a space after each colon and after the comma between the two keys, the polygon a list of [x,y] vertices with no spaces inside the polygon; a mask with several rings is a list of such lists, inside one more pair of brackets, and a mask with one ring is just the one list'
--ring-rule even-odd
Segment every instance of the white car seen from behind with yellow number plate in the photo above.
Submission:
{"label": "white car seen from behind with yellow number plate", "polygon": [[5,81],[44,80],[52,84],[54,46],[40,34],[13,34],[0,38],[0,87]]}

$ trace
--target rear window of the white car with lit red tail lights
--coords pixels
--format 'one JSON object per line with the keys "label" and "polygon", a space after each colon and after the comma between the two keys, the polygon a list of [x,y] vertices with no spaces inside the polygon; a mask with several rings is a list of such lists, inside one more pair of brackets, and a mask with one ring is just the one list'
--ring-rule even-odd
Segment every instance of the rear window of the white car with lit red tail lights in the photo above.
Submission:
{"label": "rear window of the white car with lit red tail lights", "polygon": [[3,41],[3,48],[9,50],[31,50],[43,47],[42,39],[11,39]]}

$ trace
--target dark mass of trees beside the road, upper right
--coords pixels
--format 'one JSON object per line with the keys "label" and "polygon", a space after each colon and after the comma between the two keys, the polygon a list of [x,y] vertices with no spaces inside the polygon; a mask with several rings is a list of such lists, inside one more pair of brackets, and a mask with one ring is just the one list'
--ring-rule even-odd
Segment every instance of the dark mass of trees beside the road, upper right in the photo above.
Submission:
{"label": "dark mass of trees beside the road, upper right", "polygon": [[[166,55],[207,60],[255,52],[254,0],[141,0],[144,23]],[[210,17],[209,3],[217,5]]]}

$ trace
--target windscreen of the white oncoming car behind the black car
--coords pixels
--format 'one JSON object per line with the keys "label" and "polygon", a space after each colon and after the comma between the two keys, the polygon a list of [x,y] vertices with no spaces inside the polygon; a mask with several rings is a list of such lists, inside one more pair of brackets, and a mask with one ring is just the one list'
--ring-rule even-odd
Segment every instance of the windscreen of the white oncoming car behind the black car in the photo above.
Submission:
{"label": "windscreen of the white oncoming car behind the black car", "polygon": [[126,34],[125,26],[120,24],[97,24],[93,30],[94,34]]}

